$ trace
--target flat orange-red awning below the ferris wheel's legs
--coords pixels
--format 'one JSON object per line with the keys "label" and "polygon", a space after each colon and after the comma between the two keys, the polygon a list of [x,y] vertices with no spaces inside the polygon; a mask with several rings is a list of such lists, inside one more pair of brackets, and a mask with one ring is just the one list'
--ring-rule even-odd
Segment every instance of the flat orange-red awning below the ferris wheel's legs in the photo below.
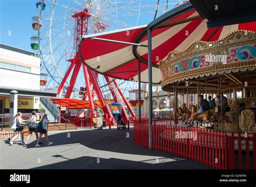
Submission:
{"label": "flat orange-red awning below the ferris wheel's legs", "polygon": [[[90,103],[88,101],[69,98],[51,99],[51,101],[68,109],[90,109]],[[95,105],[94,108],[97,108],[97,106]]]}

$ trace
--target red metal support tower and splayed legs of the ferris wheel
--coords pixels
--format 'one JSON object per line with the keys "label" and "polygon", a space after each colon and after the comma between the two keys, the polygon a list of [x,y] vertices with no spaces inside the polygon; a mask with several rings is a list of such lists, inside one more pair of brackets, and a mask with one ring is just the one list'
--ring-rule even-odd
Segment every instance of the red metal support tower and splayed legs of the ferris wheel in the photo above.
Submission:
{"label": "red metal support tower and splayed legs of the ferris wheel", "polygon": [[[68,79],[71,71],[73,70],[72,75],[71,75],[71,79],[70,79],[70,83],[69,83],[68,89],[67,89],[66,94],[65,94],[65,98],[70,98],[71,93],[73,91],[73,87],[75,85],[75,82],[76,82],[76,79],[77,79],[77,76],[78,76],[78,73],[80,71],[80,67],[83,66],[84,79],[85,79],[85,84],[86,84],[85,88],[86,88],[86,91],[87,91],[87,95],[85,96],[85,98],[87,98],[87,97],[89,98],[89,102],[91,104],[91,108],[90,108],[91,109],[91,115],[93,113],[93,106],[94,106],[93,105],[94,93],[96,93],[97,96],[98,96],[100,105],[102,105],[104,113],[107,114],[110,117],[110,119],[112,119],[111,123],[113,124],[115,122],[115,120],[113,118],[113,115],[111,113],[109,105],[106,104],[106,102],[104,100],[104,97],[103,97],[103,94],[100,91],[100,87],[99,87],[99,84],[98,84],[98,81],[97,81],[98,74],[93,72],[92,70],[89,70],[86,66],[82,65],[82,61],[80,61],[80,58],[78,56],[79,41],[82,39],[83,35],[87,34],[87,26],[88,26],[87,24],[88,24],[88,19],[90,17],[90,14],[87,13],[87,9],[84,9],[80,12],[75,12],[72,15],[72,17],[75,18],[75,20],[76,20],[75,37],[74,37],[75,42],[74,42],[74,46],[73,46],[73,49],[76,53],[75,53],[75,55],[71,56],[69,60],[67,60],[67,61],[70,61],[71,64],[68,68],[68,71],[65,73],[62,82],[60,82],[60,85],[58,87],[58,94],[62,90],[66,80]],[[108,25],[99,22],[98,26],[99,26],[99,29],[103,31]],[[105,77],[105,79],[109,80],[109,78],[107,78],[107,77]],[[92,87],[95,91],[93,93],[92,93],[91,85],[92,85]],[[117,86],[117,82],[113,81],[112,86],[113,85],[115,87],[117,87],[117,90],[118,90],[119,94],[121,95],[122,99],[124,100],[126,106],[129,108],[132,116],[135,117],[135,114],[133,113],[129,103],[127,102],[127,100],[125,98],[125,96],[123,95],[120,88]],[[115,91],[112,91],[111,93],[113,95],[113,98],[117,100],[116,93],[114,93],[114,92]],[[127,121],[129,121],[129,116],[126,113],[125,108],[123,107],[122,110],[123,110],[122,113],[125,114],[125,117],[126,117]]]}

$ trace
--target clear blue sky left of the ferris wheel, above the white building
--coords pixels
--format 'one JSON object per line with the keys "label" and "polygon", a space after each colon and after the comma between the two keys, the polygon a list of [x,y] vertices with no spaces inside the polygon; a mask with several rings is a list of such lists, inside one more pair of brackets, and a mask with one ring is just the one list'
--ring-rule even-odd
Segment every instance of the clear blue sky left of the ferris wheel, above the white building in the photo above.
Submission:
{"label": "clear blue sky left of the ferris wheel, above the white building", "polygon": [[30,49],[31,17],[37,12],[33,0],[0,0],[0,43]]}

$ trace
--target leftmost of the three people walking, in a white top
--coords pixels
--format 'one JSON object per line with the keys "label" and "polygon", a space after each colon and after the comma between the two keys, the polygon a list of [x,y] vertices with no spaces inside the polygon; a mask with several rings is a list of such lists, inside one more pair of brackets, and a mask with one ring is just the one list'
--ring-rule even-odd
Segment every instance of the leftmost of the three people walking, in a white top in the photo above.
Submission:
{"label": "leftmost of the three people walking, in a white top", "polygon": [[16,138],[21,135],[21,141],[22,141],[22,145],[24,144],[24,127],[25,127],[25,121],[28,120],[23,120],[22,119],[22,113],[18,112],[15,117],[14,120],[16,122],[16,135],[14,137],[11,138],[10,140],[10,145],[13,146],[14,145],[14,140],[16,140]]}

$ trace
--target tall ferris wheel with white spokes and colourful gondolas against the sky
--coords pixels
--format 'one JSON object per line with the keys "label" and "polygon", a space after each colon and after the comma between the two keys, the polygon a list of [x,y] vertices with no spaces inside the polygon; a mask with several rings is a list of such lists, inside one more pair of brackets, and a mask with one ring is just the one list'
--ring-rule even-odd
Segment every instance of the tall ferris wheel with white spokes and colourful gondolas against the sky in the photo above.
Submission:
{"label": "tall ferris wheel with white spokes and colourful gondolas against the sky", "polygon": [[[57,89],[62,86],[59,98],[66,97],[72,76],[63,82],[70,68],[70,59],[74,59],[79,44],[79,35],[123,29],[149,23],[150,20],[174,8],[178,0],[38,0],[36,14],[32,17],[33,34],[31,49],[41,56],[41,86]],[[86,26],[80,31],[79,12],[85,12]],[[75,71],[75,70],[74,70]],[[85,77],[82,67],[78,68],[72,98],[86,98]],[[99,88],[105,97],[111,95],[109,81],[103,75],[96,75]],[[124,80],[115,80],[122,85],[123,92],[132,84]],[[62,85],[63,84],[63,85]],[[136,84],[134,84],[136,86]],[[93,92],[93,88],[92,88]],[[93,95],[94,96],[94,95]],[[97,95],[96,95],[97,96]]]}

